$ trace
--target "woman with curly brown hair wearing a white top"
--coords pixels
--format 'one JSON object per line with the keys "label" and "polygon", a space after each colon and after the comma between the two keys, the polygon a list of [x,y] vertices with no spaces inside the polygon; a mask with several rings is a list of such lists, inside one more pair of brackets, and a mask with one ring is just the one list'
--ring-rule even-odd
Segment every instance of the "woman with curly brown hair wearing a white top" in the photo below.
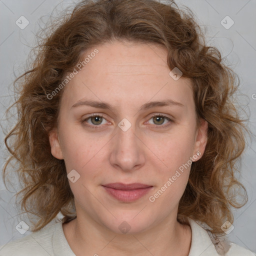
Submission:
{"label": "woman with curly brown hair wearing a white top", "polygon": [[232,197],[247,131],[235,74],[192,15],[81,1],[52,27],[5,138],[4,173],[17,159],[38,219],[1,255],[254,255],[224,236],[247,199]]}

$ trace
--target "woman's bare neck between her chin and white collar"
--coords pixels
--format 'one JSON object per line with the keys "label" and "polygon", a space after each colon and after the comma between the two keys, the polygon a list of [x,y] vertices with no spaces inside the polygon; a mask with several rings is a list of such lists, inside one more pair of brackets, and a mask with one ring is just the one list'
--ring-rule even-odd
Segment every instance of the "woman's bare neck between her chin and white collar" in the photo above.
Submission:
{"label": "woman's bare neck between her chin and white collar", "polygon": [[180,224],[176,218],[166,218],[134,234],[117,234],[93,219],[79,217],[63,224],[63,230],[77,256],[187,256],[191,243],[190,226]]}

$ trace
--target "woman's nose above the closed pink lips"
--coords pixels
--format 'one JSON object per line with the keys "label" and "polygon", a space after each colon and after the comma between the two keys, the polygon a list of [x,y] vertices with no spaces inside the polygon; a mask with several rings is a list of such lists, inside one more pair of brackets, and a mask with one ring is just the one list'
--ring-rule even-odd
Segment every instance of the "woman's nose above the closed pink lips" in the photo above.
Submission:
{"label": "woman's nose above the closed pink lips", "polygon": [[123,131],[117,126],[117,132],[111,144],[110,164],[122,171],[136,170],[145,163],[146,146],[139,134],[135,134],[133,127],[131,125],[128,130]]}

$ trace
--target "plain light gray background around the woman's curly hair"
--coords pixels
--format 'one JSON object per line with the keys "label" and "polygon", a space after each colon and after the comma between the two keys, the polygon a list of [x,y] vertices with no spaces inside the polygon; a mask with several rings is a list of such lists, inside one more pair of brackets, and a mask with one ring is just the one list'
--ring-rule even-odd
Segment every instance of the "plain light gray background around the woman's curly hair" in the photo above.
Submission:
{"label": "plain light gray background around the woman's curly hair", "polygon": [[[24,65],[31,46],[34,43],[34,34],[39,29],[43,16],[46,20],[53,8],[62,9],[73,1],[69,0],[0,0],[0,121],[5,129],[11,124],[6,123],[4,111],[13,101],[12,82],[23,72]],[[76,1],[77,2],[77,1]],[[250,111],[250,126],[255,133],[255,62],[256,62],[256,0],[176,0],[191,8],[198,23],[207,36],[207,44],[219,48],[223,56],[240,78],[240,91],[247,95],[239,101],[244,109]],[[20,29],[15,21],[24,16],[29,24]],[[221,20],[229,16],[234,24],[226,29]],[[38,24],[39,22],[39,24]],[[227,19],[226,26],[230,25]],[[0,131],[0,166],[6,159],[6,150],[3,145],[4,135]],[[241,209],[234,212],[234,229],[228,235],[233,242],[256,252],[256,143],[252,139],[243,154],[240,180],[244,183],[248,202]],[[17,187],[11,189],[12,192]],[[24,215],[17,215],[14,205],[14,193],[7,191],[0,178],[0,245],[10,240],[16,240],[30,233],[20,234],[15,226],[26,220]],[[25,221],[26,222],[26,221]]]}

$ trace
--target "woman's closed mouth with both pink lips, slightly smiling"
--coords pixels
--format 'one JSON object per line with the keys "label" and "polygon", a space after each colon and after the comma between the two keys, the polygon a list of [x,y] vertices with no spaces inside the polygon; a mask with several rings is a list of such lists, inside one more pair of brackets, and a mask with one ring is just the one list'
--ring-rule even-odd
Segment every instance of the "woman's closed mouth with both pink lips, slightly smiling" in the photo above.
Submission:
{"label": "woman's closed mouth with both pink lips, slightly smiling", "polygon": [[102,185],[102,187],[115,199],[123,202],[132,202],[148,193],[153,186],[142,183],[109,183]]}

